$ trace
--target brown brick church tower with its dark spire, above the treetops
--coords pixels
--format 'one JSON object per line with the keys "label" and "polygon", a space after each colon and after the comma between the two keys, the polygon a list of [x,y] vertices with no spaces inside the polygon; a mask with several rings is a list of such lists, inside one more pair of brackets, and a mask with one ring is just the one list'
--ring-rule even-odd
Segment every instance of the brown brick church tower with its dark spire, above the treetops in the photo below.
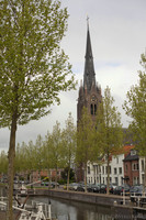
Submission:
{"label": "brown brick church tower with its dark spire, above the treetops", "polygon": [[92,120],[96,120],[96,113],[101,102],[101,87],[96,82],[96,73],[93,65],[93,56],[91,48],[91,40],[89,32],[89,24],[87,29],[87,47],[86,47],[86,61],[85,61],[85,73],[83,73],[83,84],[80,82],[79,97],[77,103],[77,124],[81,119],[82,108],[86,107],[89,113],[92,117]]}

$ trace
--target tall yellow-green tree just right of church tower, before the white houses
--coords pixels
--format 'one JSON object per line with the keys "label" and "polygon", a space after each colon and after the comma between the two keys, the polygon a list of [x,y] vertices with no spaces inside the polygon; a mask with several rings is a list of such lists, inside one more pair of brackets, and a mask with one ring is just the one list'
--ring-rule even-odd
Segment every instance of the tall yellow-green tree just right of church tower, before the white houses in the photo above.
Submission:
{"label": "tall yellow-green tree just right of church tower, before the white houses", "polygon": [[121,114],[117,108],[113,106],[114,99],[111,97],[110,88],[104,90],[102,102],[99,103],[97,113],[97,144],[100,147],[100,154],[106,161],[108,184],[106,193],[109,194],[110,184],[110,156],[116,154],[122,146],[123,132],[121,124]]}

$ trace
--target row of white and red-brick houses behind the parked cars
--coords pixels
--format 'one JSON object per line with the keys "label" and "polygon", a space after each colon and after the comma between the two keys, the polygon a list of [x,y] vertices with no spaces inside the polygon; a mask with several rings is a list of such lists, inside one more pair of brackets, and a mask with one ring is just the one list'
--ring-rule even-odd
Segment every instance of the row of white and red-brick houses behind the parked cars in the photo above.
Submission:
{"label": "row of white and red-brick houses behind the parked cars", "polygon": [[[144,184],[145,158],[139,156],[133,145],[126,145],[116,156],[110,158],[110,183],[119,186],[123,184],[141,185]],[[87,183],[106,184],[108,166],[105,161],[102,163],[88,163]]]}

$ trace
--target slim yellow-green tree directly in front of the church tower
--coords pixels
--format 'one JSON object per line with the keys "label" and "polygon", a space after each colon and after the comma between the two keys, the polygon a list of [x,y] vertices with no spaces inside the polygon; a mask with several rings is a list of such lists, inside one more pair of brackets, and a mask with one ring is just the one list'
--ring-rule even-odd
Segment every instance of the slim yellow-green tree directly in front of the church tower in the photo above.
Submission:
{"label": "slim yellow-green tree directly in front of the church tower", "polygon": [[[88,109],[83,107],[77,131],[76,162],[83,167],[85,186],[87,191],[87,163],[96,160],[94,125]],[[96,157],[94,157],[96,156]]]}

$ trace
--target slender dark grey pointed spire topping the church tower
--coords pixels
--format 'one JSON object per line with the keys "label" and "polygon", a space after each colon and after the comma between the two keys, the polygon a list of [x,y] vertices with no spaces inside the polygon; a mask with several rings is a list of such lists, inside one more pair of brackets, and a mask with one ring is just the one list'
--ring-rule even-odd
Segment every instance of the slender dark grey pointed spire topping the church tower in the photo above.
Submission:
{"label": "slender dark grey pointed spire topping the church tower", "polygon": [[88,23],[83,88],[87,87],[87,91],[90,92],[92,85],[96,85],[96,73],[93,66],[93,56],[92,56],[91,40],[90,40],[89,23]]}

